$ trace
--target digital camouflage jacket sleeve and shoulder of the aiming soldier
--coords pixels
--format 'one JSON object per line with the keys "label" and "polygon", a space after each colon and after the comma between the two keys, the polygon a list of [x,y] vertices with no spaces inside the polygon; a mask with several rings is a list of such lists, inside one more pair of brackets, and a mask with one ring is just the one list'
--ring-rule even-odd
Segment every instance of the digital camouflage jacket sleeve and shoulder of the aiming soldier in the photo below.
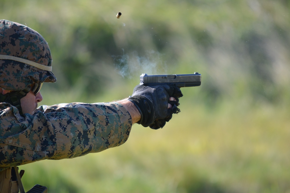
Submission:
{"label": "digital camouflage jacket sleeve and shoulder of the aiming soldier", "polygon": [[119,103],[40,106],[21,117],[0,103],[0,171],[42,159],[64,159],[100,152],[128,139],[131,115]]}

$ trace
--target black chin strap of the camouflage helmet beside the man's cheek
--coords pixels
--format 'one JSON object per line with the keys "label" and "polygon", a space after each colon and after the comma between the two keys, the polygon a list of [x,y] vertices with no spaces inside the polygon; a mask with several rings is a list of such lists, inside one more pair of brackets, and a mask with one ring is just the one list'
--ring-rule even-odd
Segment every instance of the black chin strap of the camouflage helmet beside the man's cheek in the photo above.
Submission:
{"label": "black chin strap of the camouflage helmet beside the man's cheek", "polygon": [[12,91],[10,93],[6,93],[5,95],[0,94],[0,102],[7,102],[12,106],[15,106],[18,109],[19,114],[22,116],[23,112],[20,104],[20,99],[25,97],[26,94],[29,93],[30,89],[31,87],[28,86],[21,91]]}

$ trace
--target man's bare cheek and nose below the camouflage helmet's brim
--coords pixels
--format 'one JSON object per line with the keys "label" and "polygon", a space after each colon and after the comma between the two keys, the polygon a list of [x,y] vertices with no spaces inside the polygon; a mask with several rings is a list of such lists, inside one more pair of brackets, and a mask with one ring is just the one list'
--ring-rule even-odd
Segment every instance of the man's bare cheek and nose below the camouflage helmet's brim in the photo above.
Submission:
{"label": "man's bare cheek and nose below the camouflage helmet's brim", "polygon": [[38,107],[37,103],[41,101],[42,96],[40,92],[35,95],[32,91],[29,91],[29,93],[27,93],[25,97],[20,99],[23,114],[29,113],[30,115],[32,115],[33,113],[35,113],[35,110]]}

